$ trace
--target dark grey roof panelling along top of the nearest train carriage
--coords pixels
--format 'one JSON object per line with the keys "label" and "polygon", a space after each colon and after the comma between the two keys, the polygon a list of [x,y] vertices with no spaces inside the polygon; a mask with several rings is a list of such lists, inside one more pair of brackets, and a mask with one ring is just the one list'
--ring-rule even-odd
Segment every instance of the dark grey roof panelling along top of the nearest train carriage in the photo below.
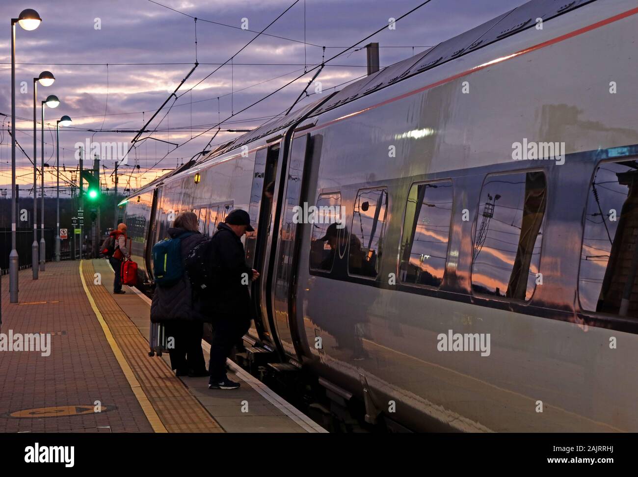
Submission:
{"label": "dark grey roof panelling along top of the nearest train carriage", "polygon": [[535,27],[537,18],[546,21],[593,1],[596,0],[532,0],[450,40],[443,41],[426,52],[399,61],[374,75],[346,86],[334,98],[318,108],[314,115],[322,114],[404,78],[427,71],[478,48],[486,47],[494,41]]}

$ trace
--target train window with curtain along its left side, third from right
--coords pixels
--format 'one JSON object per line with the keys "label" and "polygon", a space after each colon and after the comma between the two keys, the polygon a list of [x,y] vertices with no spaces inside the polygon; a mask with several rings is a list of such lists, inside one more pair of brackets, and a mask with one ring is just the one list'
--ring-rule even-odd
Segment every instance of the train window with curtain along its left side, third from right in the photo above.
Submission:
{"label": "train window with curtain along its left side, third from right", "polygon": [[440,286],[452,219],[452,182],[413,184],[403,223],[401,281]]}

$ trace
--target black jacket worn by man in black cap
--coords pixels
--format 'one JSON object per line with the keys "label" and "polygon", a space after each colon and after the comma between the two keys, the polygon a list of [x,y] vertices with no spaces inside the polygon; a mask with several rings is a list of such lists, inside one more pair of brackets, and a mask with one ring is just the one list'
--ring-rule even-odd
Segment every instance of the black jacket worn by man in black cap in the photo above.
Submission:
{"label": "black jacket worn by man in black cap", "polygon": [[255,318],[255,309],[251,304],[249,293],[253,269],[246,265],[244,244],[225,223],[217,226],[212,240],[215,242],[218,263],[221,267],[221,286],[200,301],[198,310],[206,317],[206,321],[212,322],[221,317]]}

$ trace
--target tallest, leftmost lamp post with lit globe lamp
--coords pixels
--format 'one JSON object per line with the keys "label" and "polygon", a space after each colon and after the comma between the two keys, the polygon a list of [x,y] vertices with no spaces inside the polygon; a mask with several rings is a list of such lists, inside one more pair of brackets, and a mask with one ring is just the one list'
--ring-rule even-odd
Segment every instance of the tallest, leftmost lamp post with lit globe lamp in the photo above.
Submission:
{"label": "tallest, leftmost lamp post with lit globe lamp", "polygon": [[[9,254],[9,301],[18,302],[18,251],[15,249],[15,24],[25,30],[40,26],[42,18],[38,12],[27,8],[18,18],[11,18],[11,253]],[[35,161],[36,158],[33,158]],[[33,217],[35,220],[35,217]]]}

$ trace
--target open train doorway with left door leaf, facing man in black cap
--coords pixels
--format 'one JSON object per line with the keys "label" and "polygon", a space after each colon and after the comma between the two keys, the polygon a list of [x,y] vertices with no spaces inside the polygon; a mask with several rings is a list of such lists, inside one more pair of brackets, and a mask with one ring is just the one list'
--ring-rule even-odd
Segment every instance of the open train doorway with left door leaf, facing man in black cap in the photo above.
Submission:
{"label": "open train doorway with left door leaf, facing man in black cap", "polygon": [[260,272],[259,279],[251,283],[251,298],[255,306],[255,328],[258,337],[273,350],[276,341],[272,333],[272,318],[262,287],[265,285],[266,244],[271,234],[272,196],[279,159],[279,143],[258,149],[251,187],[248,214],[255,231],[246,235],[246,263]]}

